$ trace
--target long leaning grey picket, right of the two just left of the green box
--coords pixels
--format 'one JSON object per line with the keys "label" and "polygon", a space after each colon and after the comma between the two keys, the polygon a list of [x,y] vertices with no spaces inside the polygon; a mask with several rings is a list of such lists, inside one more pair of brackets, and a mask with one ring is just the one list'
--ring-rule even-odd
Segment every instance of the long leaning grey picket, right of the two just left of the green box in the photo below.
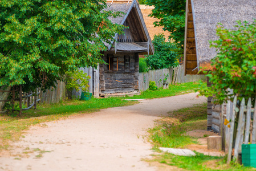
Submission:
{"label": "long leaning grey picket, right of the two just left of the green box", "polygon": [[243,111],[245,109],[245,98],[242,99],[242,102],[240,104],[240,111],[239,111],[239,117],[238,117],[238,125],[237,125],[237,136],[235,138],[235,149],[234,149],[234,158],[233,160],[235,162],[238,162],[238,149],[239,144],[241,141],[241,135],[242,135],[242,124],[243,124]]}

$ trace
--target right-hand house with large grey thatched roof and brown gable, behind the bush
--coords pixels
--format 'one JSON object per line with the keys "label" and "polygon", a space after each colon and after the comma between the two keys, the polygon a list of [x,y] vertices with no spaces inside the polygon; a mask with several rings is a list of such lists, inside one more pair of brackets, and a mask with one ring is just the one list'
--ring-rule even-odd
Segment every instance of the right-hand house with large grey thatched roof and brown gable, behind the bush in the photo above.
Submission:
{"label": "right-hand house with large grey thatched roof and brown gable, behind the bush", "polygon": [[[217,40],[216,28],[235,29],[236,21],[253,22],[256,0],[187,0],[184,44],[184,73],[197,74],[199,68],[212,70],[210,60],[217,55],[209,40]],[[210,83],[208,82],[208,86]],[[220,132],[220,118],[212,115],[212,97],[208,97],[208,128]],[[218,110],[220,111],[220,110]]]}

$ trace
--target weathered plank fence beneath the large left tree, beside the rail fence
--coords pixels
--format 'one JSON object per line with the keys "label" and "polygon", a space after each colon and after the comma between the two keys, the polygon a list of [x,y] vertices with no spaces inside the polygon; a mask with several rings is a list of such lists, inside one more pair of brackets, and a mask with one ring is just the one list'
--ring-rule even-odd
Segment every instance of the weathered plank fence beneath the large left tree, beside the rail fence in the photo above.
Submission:
{"label": "weathered plank fence beneath the large left tree, beside the rail fence", "polygon": [[55,86],[56,88],[51,87],[46,92],[40,91],[40,103],[59,103],[66,98],[66,84],[58,80]]}

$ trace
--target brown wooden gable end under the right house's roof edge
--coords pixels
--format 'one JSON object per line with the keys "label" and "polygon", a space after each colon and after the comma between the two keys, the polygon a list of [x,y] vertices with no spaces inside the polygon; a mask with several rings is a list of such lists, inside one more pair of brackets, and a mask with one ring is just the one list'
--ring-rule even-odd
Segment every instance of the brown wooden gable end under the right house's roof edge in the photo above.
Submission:
{"label": "brown wooden gable end under the right house's roof edge", "polygon": [[186,51],[185,51],[185,74],[197,74],[196,39],[194,35],[194,23],[191,0],[188,1],[188,14],[186,21]]}

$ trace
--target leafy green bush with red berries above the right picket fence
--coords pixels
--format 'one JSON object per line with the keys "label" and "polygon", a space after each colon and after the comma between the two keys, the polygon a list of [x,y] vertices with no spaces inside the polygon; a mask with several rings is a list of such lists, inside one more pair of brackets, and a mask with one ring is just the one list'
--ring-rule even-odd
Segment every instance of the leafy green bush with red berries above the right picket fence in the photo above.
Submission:
{"label": "leafy green bush with red berries above the right picket fence", "polygon": [[[211,41],[211,47],[218,50],[212,59],[213,70],[207,75],[212,87],[201,84],[200,94],[215,95],[216,103],[232,99],[238,95],[252,99],[256,96],[256,27],[255,23],[237,22],[236,30],[227,30],[220,24],[217,35],[220,39]],[[227,91],[233,89],[233,93]]]}

